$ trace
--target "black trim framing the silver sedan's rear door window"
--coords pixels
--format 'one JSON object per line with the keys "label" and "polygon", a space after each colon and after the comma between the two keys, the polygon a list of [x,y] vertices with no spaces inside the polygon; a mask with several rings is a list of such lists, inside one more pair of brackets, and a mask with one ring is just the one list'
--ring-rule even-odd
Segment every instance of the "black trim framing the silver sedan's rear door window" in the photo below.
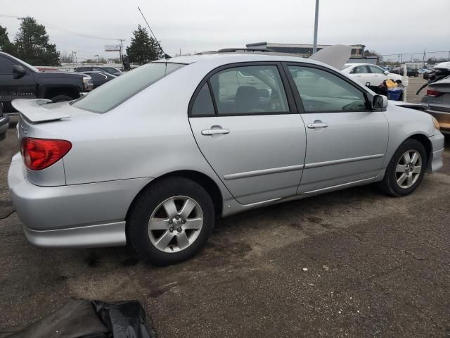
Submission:
{"label": "black trim framing the silver sedan's rear door window", "polygon": [[[231,113],[231,114],[219,114],[217,111],[217,102],[214,99],[214,93],[212,92],[210,78],[222,70],[237,68],[237,67],[250,67],[257,65],[275,65],[278,70],[278,74],[281,77],[281,84],[283,85],[283,89],[286,95],[286,101],[288,102],[289,111],[272,111],[272,112],[264,112],[264,113]],[[210,95],[212,99],[212,104],[214,106],[214,114],[205,114],[205,115],[192,115],[192,108],[197,99],[198,93],[203,88],[203,85],[207,83],[210,89]],[[252,115],[290,115],[290,114],[298,114],[297,104],[295,103],[294,94],[292,88],[290,87],[288,77],[285,75],[285,70],[283,69],[283,65],[281,61],[245,61],[245,62],[237,62],[237,63],[227,63],[226,65],[221,65],[217,68],[211,70],[203,79],[200,81],[198,86],[195,88],[191,96],[191,100],[189,100],[188,104],[188,118],[212,118],[212,117],[226,117],[226,116],[252,116]]]}

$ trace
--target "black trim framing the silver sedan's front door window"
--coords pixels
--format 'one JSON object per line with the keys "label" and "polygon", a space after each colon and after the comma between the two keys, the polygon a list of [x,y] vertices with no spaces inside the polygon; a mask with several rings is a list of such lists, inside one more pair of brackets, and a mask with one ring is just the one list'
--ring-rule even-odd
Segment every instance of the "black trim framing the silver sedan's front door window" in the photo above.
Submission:
{"label": "black trim framing the silver sedan's front door window", "polygon": [[300,97],[300,93],[298,92],[297,89],[297,85],[295,84],[294,78],[293,76],[290,74],[289,68],[288,66],[297,66],[297,67],[304,67],[304,68],[316,68],[316,69],[320,69],[323,70],[327,73],[330,73],[332,75],[335,75],[337,77],[339,77],[341,80],[344,80],[345,82],[347,82],[348,84],[351,84],[352,87],[354,87],[355,89],[359,90],[359,92],[361,92],[364,95],[364,99],[366,101],[366,109],[365,110],[361,110],[361,111],[374,111],[373,108],[371,108],[371,102],[368,99],[368,92],[366,92],[366,90],[364,90],[363,88],[359,87],[358,84],[352,82],[352,80],[350,80],[349,78],[345,77],[345,75],[342,75],[338,72],[336,72],[335,70],[332,70],[330,68],[326,68],[323,67],[321,65],[316,65],[314,63],[302,63],[302,62],[283,62],[283,68],[284,71],[286,73],[286,75],[288,76],[288,80],[289,80],[289,84],[291,87],[291,91],[293,92],[294,98],[295,98],[295,104],[297,104],[297,109],[301,112],[300,114],[316,114],[316,113],[357,113],[359,111],[305,111],[304,110],[304,106],[303,106],[303,101],[302,98]]}

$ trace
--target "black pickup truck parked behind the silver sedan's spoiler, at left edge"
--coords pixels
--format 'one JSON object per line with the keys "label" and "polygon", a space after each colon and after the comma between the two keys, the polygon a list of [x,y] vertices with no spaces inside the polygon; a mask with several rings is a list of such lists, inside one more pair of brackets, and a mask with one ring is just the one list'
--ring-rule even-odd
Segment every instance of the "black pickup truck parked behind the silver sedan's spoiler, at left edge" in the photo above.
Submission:
{"label": "black pickup truck parked behind the silver sedan's spoiler, at left edge", "polygon": [[0,96],[4,113],[17,115],[11,101],[39,98],[56,101],[77,99],[80,92],[92,89],[91,77],[69,72],[39,72],[37,68],[0,52]]}

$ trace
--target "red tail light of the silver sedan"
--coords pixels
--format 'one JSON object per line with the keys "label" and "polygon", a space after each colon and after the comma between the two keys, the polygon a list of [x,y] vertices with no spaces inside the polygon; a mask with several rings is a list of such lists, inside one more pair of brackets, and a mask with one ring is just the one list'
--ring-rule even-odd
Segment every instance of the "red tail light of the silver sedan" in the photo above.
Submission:
{"label": "red tail light of the silver sedan", "polygon": [[20,153],[27,168],[42,170],[68,154],[72,144],[63,139],[34,139],[23,137]]}

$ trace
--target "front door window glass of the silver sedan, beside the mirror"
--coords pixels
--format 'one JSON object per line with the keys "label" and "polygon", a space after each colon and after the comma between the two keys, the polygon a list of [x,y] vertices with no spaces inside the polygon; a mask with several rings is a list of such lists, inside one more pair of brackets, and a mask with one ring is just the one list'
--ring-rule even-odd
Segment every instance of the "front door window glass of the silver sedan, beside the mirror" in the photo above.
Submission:
{"label": "front door window glass of the silver sedan, beside the mirror", "polygon": [[364,111],[364,93],[337,75],[318,68],[289,65],[304,111]]}

